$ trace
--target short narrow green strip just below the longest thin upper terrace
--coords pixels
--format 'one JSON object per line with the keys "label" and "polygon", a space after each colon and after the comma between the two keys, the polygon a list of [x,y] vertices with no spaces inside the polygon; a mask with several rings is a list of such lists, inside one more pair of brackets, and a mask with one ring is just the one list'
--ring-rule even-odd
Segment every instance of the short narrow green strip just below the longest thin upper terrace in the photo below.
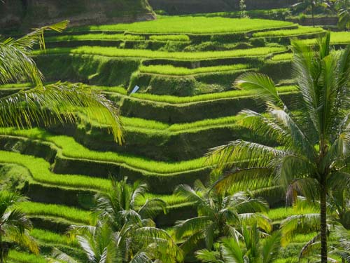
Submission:
{"label": "short narrow green strip just below the longest thin upper terrace", "polygon": [[248,69],[251,67],[246,64],[236,64],[228,66],[216,66],[216,67],[197,67],[195,69],[188,69],[186,67],[174,67],[172,65],[151,65],[141,66],[139,71],[143,73],[151,74],[163,74],[163,75],[174,75],[174,76],[186,76],[193,74],[201,74],[208,72],[227,72],[239,69]]}

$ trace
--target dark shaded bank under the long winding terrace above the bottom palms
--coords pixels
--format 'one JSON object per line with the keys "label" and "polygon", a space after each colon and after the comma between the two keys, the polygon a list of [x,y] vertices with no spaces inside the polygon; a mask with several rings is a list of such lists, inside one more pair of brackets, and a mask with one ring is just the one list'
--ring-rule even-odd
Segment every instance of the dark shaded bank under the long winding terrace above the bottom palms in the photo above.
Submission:
{"label": "dark shaded bank under the long winding terrace above the bottom palms", "polygon": [[[18,149],[17,145],[21,147]],[[7,151],[20,151],[34,155],[36,152],[28,151],[28,149],[36,144],[36,149],[42,145],[40,140],[28,140],[25,137],[15,136],[0,136],[0,149]],[[44,145],[50,144],[45,142]],[[87,175],[90,177],[108,178],[109,175],[116,175],[120,180],[127,176],[130,182],[141,180],[148,184],[149,190],[155,194],[172,194],[174,188],[179,184],[193,185],[195,180],[202,180],[207,182],[211,168],[201,166],[193,170],[183,170],[175,173],[155,173],[147,170],[140,170],[139,168],[132,168],[124,163],[116,163],[111,161],[96,161],[91,159],[74,159],[62,155],[62,149],[56,149],[55,163],[52,167],[54,173],[64,175]],[[117,172],[119,171],[119,172]]]}

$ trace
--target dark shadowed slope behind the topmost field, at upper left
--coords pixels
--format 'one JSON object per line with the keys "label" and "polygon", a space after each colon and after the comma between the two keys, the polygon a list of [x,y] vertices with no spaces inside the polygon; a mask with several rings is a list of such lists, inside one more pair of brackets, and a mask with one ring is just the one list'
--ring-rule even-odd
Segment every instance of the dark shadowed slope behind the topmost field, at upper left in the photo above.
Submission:
{"label": "dark shadowed slope behind the topmost field, at upper left", "polygon": [[99,25],[153,19],[147,0],[0,1],[0,28],[27,29],[68,19],[71,25]]}

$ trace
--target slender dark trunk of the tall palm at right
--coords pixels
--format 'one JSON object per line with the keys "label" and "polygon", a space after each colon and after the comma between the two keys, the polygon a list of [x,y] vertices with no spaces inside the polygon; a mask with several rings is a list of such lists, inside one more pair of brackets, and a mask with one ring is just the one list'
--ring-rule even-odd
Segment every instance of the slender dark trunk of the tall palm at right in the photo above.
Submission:
{"label": "slender dark trunk of the tall palm at right", "polygon": [[320,182],[320,201],[321,201],[321,263],[327,263],[327,187],[325,176]]}

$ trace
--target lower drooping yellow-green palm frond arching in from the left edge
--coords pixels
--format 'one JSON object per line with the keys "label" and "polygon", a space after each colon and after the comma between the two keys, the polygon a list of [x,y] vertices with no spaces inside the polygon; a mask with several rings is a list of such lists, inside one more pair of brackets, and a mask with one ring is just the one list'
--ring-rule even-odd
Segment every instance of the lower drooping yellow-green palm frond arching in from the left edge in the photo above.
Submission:
{"label": "lower drooping yellow-green palm frond arching in from the left edge", "polygon": [[104,118],[111,126],[114,139],[123,142],[123,128],[118,109],[113,103],[84,86],[66,86],[56,83],[49,86],[21,90],[0,98],[0,126],[31,127],[34,123],[49,126],[52,123],[76,121],[79,107],[87,109],[91,118]]}

